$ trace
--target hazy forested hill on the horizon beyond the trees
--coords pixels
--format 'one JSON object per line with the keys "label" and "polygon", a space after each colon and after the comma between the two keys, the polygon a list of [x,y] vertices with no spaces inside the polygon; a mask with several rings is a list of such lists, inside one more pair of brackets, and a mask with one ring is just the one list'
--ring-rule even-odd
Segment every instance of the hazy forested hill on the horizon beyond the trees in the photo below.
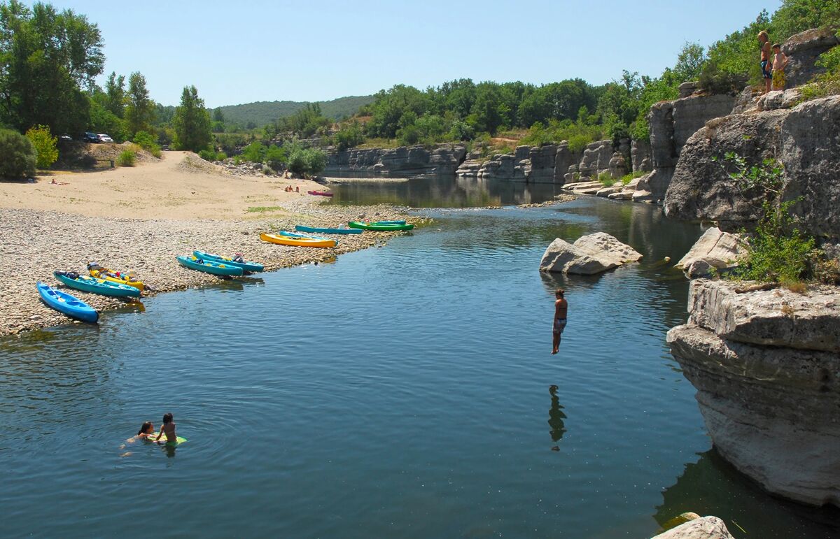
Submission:
{"label": "hazy forested hill on the horizon beyond the trees", "polygon": [[[359,111],[359,107],[373,102],[373,96],[339,97],[332,101],[321,101],[321,113],[327,118],[339,119],[352,116]],[[258,101],[242,105],[227,105],[220,107],[226,123],[238,123],[241,126],[253,122],[257,127],[271,123],[277,118],[291,116],[297,113],[307,102],[298,101]]]}

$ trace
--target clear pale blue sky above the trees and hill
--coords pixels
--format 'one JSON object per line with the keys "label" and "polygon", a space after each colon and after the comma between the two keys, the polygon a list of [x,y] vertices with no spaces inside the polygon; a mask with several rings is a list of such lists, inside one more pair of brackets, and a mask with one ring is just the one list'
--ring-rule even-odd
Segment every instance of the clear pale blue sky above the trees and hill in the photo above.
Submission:
{"label": "clear pale blue sky above the trees and hill", "polygon": [[194,84],[208,107],[321,101],[460,77],[600,84],[659,75],[685,41],[708,45],[780,0],[90,2],[105,72],[140,71],[155,101]]}

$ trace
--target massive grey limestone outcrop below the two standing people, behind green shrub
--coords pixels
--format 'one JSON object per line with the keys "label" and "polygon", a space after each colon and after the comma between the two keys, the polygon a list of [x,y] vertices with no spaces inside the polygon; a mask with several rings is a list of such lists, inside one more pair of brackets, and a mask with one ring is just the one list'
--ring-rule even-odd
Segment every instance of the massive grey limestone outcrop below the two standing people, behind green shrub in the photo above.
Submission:
{"label": "massive grey limestone outcrop below the two standing people, behind green shrub", "polygon": [[[783,200],[806,232],[840,238],[840,96],[792,109],[717,118],[691,136],[665,195],[665,213],[709,219],[724,231],[751,227],[759,217],[759,191],[744,191],[722,157],[733,151],[750,163],[777,158],[785,165]],[[716,160],[713,160],[717,159]]]}

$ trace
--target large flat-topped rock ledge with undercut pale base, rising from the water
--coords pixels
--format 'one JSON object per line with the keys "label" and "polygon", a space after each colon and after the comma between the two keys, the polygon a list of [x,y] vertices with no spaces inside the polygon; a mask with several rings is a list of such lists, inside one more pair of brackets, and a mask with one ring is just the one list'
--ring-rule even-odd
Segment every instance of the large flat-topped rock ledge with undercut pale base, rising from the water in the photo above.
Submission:
{"label": "large flat-topped rock ledge with undercut pale base, rising from the water", "polygon": [[668,332],[717,451],[774,495],[840,506],[840,293],[695,280]]}

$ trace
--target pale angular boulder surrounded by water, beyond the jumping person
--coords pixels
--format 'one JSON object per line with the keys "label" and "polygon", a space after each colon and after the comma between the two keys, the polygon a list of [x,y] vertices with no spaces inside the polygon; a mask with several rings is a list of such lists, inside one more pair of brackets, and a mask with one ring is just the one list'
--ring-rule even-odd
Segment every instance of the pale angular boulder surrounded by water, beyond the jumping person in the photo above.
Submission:
{"label": "pale angular boulder surrounded by water, beyond the jumping person", "polygon": [[637,262],[642,254],[610,234],[599,232],[581,236],[575,243],[557,238],[545,249],[540,271],[594,275],[627,262]]}

